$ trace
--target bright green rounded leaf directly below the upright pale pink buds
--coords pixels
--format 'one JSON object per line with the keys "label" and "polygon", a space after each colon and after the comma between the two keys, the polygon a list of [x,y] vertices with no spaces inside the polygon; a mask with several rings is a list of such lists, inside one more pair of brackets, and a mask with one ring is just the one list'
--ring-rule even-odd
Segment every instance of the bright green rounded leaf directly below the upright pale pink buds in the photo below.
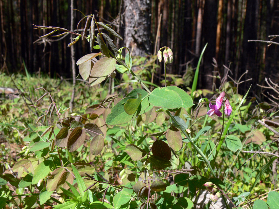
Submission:
{"label": "bright green rounded leaf directly below the upright pale pink buds", "polygon": [[149,103],[153,106],[167,109],[179,108],[183,105],[182,99],[175,91],[166,87],[154,89],[149,96]]}

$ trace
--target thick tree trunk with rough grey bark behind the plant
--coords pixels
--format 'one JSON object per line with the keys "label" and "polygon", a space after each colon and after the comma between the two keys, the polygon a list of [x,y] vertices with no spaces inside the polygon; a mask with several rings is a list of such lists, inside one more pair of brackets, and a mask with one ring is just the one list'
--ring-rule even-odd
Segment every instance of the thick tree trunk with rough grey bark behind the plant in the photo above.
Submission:
{"label": "thick tree trunk with rough grey bark behind the plant", "polygon": [[133,56],[150,54],[150,1],[124,0],[124,45],[133,50]]}

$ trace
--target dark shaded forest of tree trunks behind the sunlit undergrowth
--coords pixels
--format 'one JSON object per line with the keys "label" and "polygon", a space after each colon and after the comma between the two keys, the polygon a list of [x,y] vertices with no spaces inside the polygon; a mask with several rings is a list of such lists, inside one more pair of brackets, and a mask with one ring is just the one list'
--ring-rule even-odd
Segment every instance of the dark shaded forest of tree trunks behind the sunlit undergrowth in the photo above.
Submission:
{"label": "dark shaded forest of tree trunks behind the sunlit undergrowth", "polygon": [[[50,30],[32,29],[32,24],[70,29],[69,5],[70,0],[0,0],[1,72],[24,72],[24,61],[30,73],[70,78],[70,36],[35,42]],[[133,49],[133,55],[157,54],[160,47],[169,46],[174,62],[168,65],[168,74],[184,75],[194,69],[208,43],[198,88],[215,89],[212,76],[218,71],[223,76],[227,71],[223,65],[230,66],[233,79],[249,71],[244,79],[253,79],[245,82],[242,89],[250,84],[255,88],[264,77],[279,80],[278,46],[247,42],[271,40],[269,35],[278,34],[278,0],[79,0],[74,1],[74,8],[85,15],[95,14],[97,21],[120,31],[124,42],[116,40],[118,47]],[[83,14],[76,10],[73,14],[76,28]],[[84,25],[85,20],[78,26],[78,33],[82,33]],[[278,39],[274,37],[273,41]],[[74,47],[75,60],[90,53],[85,39]],[[162,73],[157,70],[154,82],[160,82]],[[216,82],[218,88],[218,79]]]}

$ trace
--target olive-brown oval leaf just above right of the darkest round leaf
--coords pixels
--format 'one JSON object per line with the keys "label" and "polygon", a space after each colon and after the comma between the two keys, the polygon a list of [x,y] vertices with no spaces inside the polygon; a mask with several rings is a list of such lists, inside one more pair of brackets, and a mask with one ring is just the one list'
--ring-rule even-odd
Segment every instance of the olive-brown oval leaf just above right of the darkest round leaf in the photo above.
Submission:
{"label": "olive-brown oval leaf just above right of the darkest round leaf", "polygon": [[174,151],[179,151],[182,147],[182,136],[180,131],[175,127],[167,130],[167,141]]}

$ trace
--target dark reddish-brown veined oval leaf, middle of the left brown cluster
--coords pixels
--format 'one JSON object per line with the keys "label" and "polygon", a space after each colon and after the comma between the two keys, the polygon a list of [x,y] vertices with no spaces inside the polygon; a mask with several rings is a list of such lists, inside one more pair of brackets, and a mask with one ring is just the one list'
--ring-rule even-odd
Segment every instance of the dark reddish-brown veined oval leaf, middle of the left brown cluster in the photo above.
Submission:
{"label": "dark reddish-brown veined oval leaf, middle of the left brown cluster", "polygon": [[69,135],[67,149],[69,152],[74,152],[81,145],[83,145],[85,141],[85,130],[81,127],[76,127],[72,133]]}

